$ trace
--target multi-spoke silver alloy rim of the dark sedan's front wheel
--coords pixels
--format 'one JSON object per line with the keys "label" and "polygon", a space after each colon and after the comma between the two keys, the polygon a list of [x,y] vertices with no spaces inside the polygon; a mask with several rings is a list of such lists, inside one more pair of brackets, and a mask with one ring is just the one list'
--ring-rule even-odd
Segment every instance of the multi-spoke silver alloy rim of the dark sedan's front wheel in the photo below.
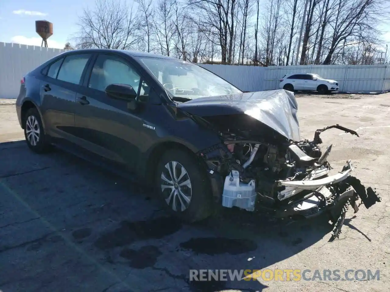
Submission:
{"label": "multi-spoke silver alloy rim of the dark sedan's front wheel", "polygon": [[165,202],[174,211],[185,211],[192,198],[190,177],[184,166],[177,161],[165,164],[161,172],[161,191]]}

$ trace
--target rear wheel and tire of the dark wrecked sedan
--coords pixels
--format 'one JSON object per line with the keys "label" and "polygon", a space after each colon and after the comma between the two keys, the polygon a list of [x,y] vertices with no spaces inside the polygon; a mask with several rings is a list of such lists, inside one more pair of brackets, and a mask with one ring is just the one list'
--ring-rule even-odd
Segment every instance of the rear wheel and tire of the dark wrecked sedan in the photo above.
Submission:
{"label": "rear wheel and tire of the dark wrecked sedan", "polygon": [[24,133],[28,148],[35,153],[46,153],[50,150],[47,136],[44,132],[41,116],[38,110],[33,107],[27,111],[23,118]]}

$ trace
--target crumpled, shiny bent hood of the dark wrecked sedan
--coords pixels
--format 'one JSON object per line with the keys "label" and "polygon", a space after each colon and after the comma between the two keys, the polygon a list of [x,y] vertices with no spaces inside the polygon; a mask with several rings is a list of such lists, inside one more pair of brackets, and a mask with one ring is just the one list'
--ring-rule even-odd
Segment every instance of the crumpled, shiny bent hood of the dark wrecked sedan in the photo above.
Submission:
{"label": "crumpled, shiny bent hood of the dark wrecked sedan", "polygon": [[246,114],[287,139],[300,141],[298,104],[294,93],[283,89],[200,97],[177,107],[200,117]]}

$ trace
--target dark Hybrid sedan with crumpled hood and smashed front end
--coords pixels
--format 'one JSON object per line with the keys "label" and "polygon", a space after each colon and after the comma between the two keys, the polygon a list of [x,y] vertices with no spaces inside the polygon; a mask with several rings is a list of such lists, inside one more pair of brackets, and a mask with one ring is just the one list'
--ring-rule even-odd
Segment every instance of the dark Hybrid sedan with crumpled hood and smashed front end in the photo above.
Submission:
{"label": "dark Hybrid sedan with crumpled hood and smashed front end", "polygon": [[215,206],[273,218],[330,215],[337,236],[347,206],[380,201],[332,167],[319,129],[301,140],[294,93],[244,93],[198,65],[139,52],[63,53],[21,80],[16,110],[28,146],[55,144],[136,174],[186,221]]}

